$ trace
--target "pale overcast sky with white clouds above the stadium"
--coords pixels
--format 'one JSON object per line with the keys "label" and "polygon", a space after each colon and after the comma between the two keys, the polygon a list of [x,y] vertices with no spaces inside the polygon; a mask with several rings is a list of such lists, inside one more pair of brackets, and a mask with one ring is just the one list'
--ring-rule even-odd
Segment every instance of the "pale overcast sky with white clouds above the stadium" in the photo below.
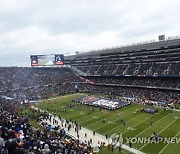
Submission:
{"label": "pale overcast sky with white clouds above the stadium", "polygon": [[179,0],[0,0],[0,66],[180,34]]}

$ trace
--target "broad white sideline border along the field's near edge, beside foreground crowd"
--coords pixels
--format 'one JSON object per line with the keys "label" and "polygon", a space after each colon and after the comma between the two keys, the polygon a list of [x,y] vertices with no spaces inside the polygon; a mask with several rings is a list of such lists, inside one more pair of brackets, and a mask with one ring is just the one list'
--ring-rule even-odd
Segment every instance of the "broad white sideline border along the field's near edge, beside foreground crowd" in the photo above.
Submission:
{"label": "broad white sideline border along the field's near edge, beside foreground crowd", "polygon": [[[38,108],[35,108],[34,106],[31,106],[32,108],[34,108],[35,110],[38,110]],[[44,112],[43,110],[41,110],[40,109],[40,111],[41,112]],[[50,113],[50,115],[53,115],[53,114],[51,114]],[[58,120],[58,124],[59,123],[61,123],[61,121],[59,120],[59,118],[57,117],[57,116],[53,116],[52,117],[53,119],[56,119],[56,120]],[[61,118],[61,119],[63,119],[63,118]],[[64,119],[63,119],[64,120]],[[53,120],[51,120],[51,121],[53,121]],[[48,121],[49,122],[49,121]],[[49,122],[50,123],[50,122]],[[51,125],[53,125],[53,123],[50,123]],[[56,126],[56,125],[53,125],[53,126]],[[66,130],[66,132],[69,134],[69,135],[71,135],[71,136],[73,136],[73,137],[75,137],[76,138],[76,132],[74,132],[74,129],[72,128],[72,129],[70,129],[70,131],[68,132],[67,131],[67,128],[64,128],[65,130]],[[87,137],[84,137],[84,134],[87,134],[87,137],[89,137],[89,138],[87,138]],[[79,131],[79,137],[80,137],[80,140],[81,141],[83,141],[83,142],[85,142],[85,140],[87,141],[88,139],[92,139],[93,140],[93,142],[94,143],[98,143],[98,141],[102,141],[102,142],[105,142],[106,143],[106,145],[108,144],[108,140],[105,138],[105,136],[103,136],[103,135],[100,135],[100,134],[98,134],[98,133],[96,133],[96,135],[94,136],[93,135],[93,131],[91,131],[91,130],[89,130],[89,129],[86,129],[86,128],[84,128],[84,127],[82,127],[81,128],[81,130]],[[130,151],[130,152],[132,152],[132,153],[135,153],[135,154],[145,154],[145,153],[143,153],[143,152],[141,152],[141,151],[139,151],[139,150],[137,150],[137,149],[134,149],[134,148],[130,148],[129,146],[127,146],[127,145],[122,145],[122,148],[123,149],[126,149],[126,150],[128,150],[128,151]]]}

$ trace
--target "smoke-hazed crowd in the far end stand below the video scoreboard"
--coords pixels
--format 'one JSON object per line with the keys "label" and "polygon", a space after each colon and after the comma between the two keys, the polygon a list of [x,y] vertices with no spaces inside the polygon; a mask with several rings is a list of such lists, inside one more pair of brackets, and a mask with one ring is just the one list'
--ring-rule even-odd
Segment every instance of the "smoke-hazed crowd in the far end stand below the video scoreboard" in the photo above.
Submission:
{"label": "smoke-hazed crowd in the far end stand below the video scoreboard", "polygon": [[78,77],[68,68],[0,67],[1,95],[36,100],[73,92]]}

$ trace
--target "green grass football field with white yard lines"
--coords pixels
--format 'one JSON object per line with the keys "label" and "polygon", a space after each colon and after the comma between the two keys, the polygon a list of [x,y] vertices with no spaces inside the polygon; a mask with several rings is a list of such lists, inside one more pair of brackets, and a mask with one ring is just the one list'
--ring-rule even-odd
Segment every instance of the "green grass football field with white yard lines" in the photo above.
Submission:
{"label": "green grass football field with white yard lines", "polygon": [[[115,111],[99,110],[98,108],[94,108],[94,111],[91,111],[90,108],[92,107],[72,102],[73,99],[79,98],[82,95],[83,94],[60,96],[42,101],[36,105],[36,107],[46,111],[47,109],[51,109],[51,113],[67,120],[74,120],[82,127],[102,135],[107,134],[110,136],[113,133],[122,133],[123,144],[127,145],[129,145],[127,141],[130,138],[148,138],[153,132],[156,132],[159,136],[169,139],[168,141],[170,141],[170,139],[173,141],[171,143],[164,141],[159,143],[135,143],[135,139],[132,139],[132,148],[149,154],[180,153],[179,111],[173,111],[171,113],[170,111],[159,109],[158,113],[152,115],[142,113],[140,109],[145,106],[139,104],[131,104]],[[69,108],[69,104],[73,104],[73,107]],[[54,109],[60,109],[62,111],[55,111]],[[63,110],[66,110],[66,112],[63,112]],[[105,118],[105,122],[102,121],[102,118]],[[122,119],[125,121],[125,125],[121,123]],[[100,153],[111,152],[103,148]],[[112,153],[118,153],[118,150]]]}

